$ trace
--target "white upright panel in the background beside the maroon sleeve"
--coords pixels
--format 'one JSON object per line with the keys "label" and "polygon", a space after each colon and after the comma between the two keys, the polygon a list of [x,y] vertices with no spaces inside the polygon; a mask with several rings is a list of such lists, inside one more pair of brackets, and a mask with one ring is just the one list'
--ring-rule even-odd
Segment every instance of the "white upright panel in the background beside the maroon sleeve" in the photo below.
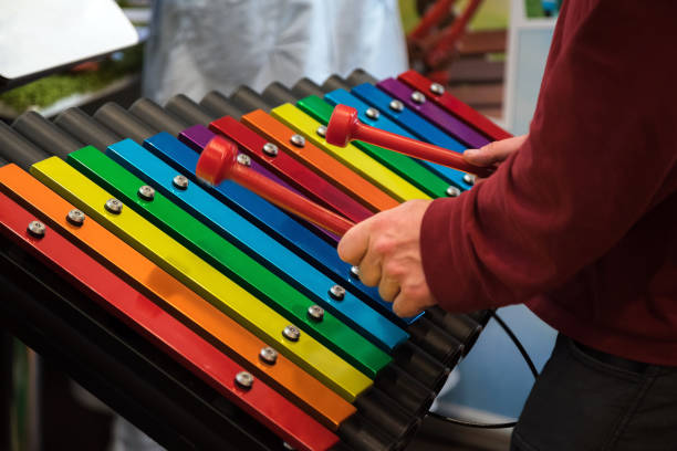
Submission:
{"label": "white upright panel in the background beside the maroon sleeve", "polygon": [[524,0],[512,0],[503,117],[513,135],[529,132],[556,18],[529,19]]}

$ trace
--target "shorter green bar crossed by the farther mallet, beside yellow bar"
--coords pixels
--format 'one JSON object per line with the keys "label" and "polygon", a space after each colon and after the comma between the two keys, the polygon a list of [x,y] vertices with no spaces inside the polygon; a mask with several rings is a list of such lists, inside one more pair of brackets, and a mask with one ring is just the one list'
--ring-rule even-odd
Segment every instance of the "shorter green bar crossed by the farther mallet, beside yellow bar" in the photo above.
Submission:
{"label": "shorter green bar crossed by the farther mallet, beside yellow bar", "polygon": [[[324,125],[329,124],[329,119],[334,111],[332,105],[316,95],[310,95],[300,99],[296,106]],[[416,186],[416,188],[425,191],[428,196],[448,197],[447,188],[449,188],[449,182],[430,172],[406,155],[360,140],[354,140],[353,144],[369,157],[397,172],[412,185]]]}

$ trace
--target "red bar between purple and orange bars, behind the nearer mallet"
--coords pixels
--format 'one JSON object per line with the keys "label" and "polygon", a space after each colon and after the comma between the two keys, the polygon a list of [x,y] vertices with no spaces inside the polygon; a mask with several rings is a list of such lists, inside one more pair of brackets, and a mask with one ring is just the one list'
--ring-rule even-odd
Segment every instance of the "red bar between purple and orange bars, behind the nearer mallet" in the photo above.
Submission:
{"label": "red bar between purple and orange bars, behind the nearer mallet", "polygon": [[[212,132],[228,136],[252,159],[265,166],[278,177],[322,206],[331,208],[353,221],[362,221],[372,214],[369,210],[355,202],[317,174],[296,161],[287,153],[280,151],[277,146],[273,145],[274,149],[271,148],[271,144],[264,138],[232,117],[225,116],[216,119],[209,124],[209,128]],[[302,147],[304,143],[296,140],[296,145]]]}

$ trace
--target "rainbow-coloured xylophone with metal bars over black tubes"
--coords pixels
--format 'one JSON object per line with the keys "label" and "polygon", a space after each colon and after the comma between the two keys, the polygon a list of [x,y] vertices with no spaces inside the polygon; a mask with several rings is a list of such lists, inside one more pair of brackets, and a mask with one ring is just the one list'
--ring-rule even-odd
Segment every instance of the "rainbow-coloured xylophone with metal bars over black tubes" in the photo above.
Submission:
{"label": "rainbow-coloured xylophone with metal bars over black tubes", "polygon": [[14,332],[170,449],[405,448],[490,312],[399,318],[335,234],[195,174],[222,136],[239,164],[351,221],[472,186],[330,145],[337,104],[450,151],[508,136],[413,71],[0,124],[0,279],[19,300],[4,308],[33,325]]}

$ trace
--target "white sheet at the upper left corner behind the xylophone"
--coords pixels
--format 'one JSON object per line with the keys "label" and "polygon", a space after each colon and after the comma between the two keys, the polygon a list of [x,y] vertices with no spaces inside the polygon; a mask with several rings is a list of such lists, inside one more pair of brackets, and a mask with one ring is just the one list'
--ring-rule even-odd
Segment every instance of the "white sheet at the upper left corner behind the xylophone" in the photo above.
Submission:
{"label": "white sheet at the upper left corner behind the xylophone", "polygon": [[0,85],[138,42],[113,0],[0,0]]}

